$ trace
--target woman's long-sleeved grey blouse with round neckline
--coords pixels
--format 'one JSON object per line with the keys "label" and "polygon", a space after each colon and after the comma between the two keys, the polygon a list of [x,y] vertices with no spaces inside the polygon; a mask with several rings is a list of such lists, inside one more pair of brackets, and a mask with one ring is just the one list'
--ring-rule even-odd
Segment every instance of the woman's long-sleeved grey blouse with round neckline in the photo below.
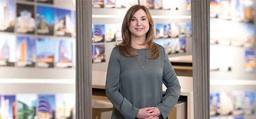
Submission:
{"label": "woman's long-sleeved grey blouse with round neckline", "polygon": [[[140,108],[157,107],[166,119],[180,96],[180,83],[161,45],[156,44],[159,57],[151,59],[144,71],[135,57],[123,57],[113,48],[108,63],[106,95],[113,104],[111,119],[135,119]],[[145,69],[149,59],[147,49],[135,49]],[[163,97],[162,83],[166,85]]]}

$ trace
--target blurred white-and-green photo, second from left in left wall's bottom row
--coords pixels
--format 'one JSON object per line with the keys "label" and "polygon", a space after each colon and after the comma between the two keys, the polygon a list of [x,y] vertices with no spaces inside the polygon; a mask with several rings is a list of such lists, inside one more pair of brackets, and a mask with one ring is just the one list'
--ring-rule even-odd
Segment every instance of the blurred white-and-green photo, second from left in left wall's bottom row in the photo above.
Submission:
{"label": "blurred white-and-green photo, second from left in left wall's bottom row", "polygon": [[17,94],[18,119],[35,119],[37,94]]}

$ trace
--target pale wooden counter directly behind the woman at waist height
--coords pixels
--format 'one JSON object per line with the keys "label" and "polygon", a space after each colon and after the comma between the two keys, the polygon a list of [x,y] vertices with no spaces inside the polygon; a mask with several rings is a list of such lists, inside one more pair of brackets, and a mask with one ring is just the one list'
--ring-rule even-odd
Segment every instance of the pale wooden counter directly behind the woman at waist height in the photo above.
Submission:
{"label": "pale wooden counter directly behind the woman at waist height", "polygon": [[[108,100],[105,94],[105,82],[106,74],[104,71],[93,71],[92,72],[92,87],[93,87],[93,99],[103,99]],[[193,109],[193,78],[192,77],[180,77],[178,76],[181,94],[180,96],[185,96],[187,100],[187,119],[193,119],[194,109]],[[166,86],[163,85],[163,94],[165,94]],[[176,105],[177,106],[177,105]]]}

